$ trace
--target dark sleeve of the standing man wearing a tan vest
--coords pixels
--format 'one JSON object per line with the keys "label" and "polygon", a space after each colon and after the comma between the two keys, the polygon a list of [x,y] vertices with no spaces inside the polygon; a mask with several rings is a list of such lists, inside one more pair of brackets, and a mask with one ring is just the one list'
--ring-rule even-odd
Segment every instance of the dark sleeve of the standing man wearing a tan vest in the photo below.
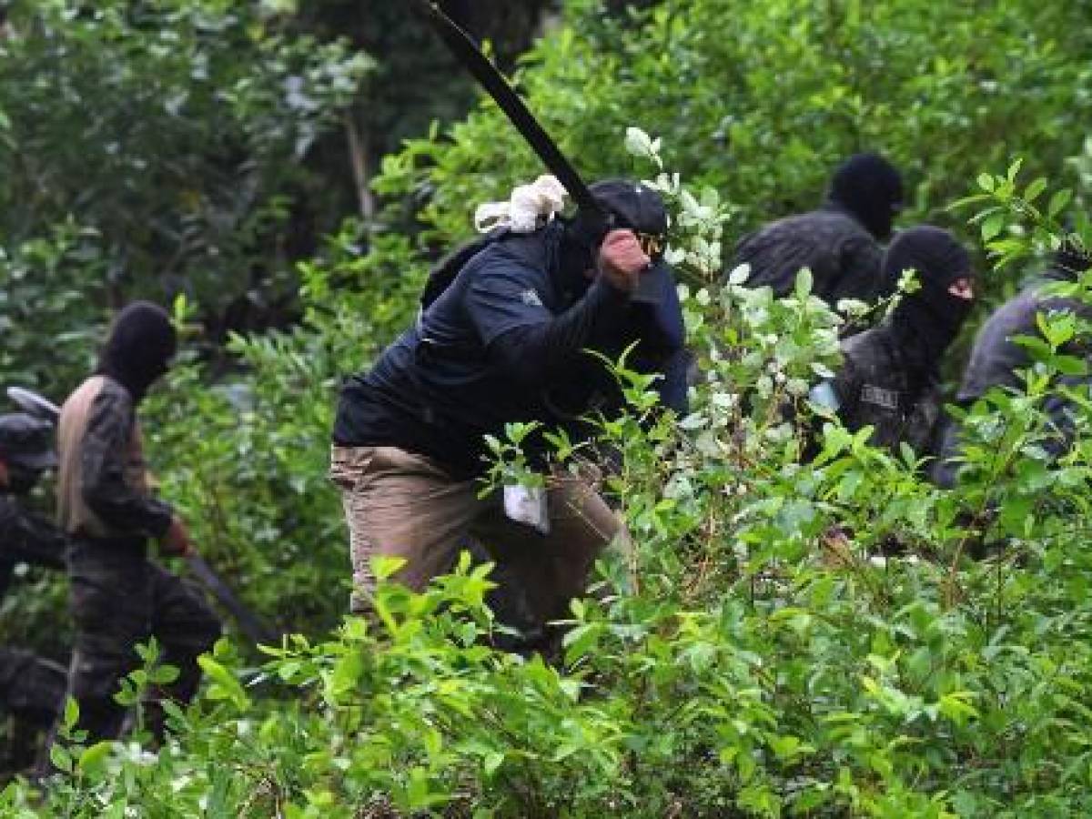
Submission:
{"label": "dark sleeve of the standing man wearing a tan vest", "polygon": [[124,392],[104,389],[95,397],[80,462],[83,500],[111,530],[158,538],[170,526],[170,507],[126,480],[133,423]]}

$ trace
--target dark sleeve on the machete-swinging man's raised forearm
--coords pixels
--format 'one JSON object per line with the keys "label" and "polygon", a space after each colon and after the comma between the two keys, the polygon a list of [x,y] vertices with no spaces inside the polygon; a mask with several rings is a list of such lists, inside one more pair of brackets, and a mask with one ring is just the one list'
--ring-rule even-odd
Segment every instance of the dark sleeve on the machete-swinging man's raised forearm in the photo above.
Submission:
{"label": "dark sleeve on the machete-swinging man's raised forearm", "polygon": [[543,387],[557,381],[596,336],[608,334],[626,317],[628,294],[603,277],[566,311],[527,313],[488,344],[488,353],[517,381]]}

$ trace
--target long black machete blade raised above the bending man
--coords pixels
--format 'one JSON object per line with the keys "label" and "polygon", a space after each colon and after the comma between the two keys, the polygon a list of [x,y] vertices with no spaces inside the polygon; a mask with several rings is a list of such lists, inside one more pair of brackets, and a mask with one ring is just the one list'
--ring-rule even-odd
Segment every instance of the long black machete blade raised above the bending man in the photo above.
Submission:
{"label": "long black machete blade raised above the bending man", "polygon": [[598,218],[602,224],[609,226],[612,215],[595,201],[580,174],[572,167],[572,164],[565,157],[545,129],[538,124],[538,120],[527,109],[523,98],[515,93],[515,90],[497,67],[482,54],[471,36],[455,21],[444,14],[443,10],[432,0],[417,0],[417,4],[423,8],[426,17],[440,39],[474,75],[474,79],[482,84],[482,87],[489,93],[505,116],[515,126],[515,130],[523,135],[538,158],[569,192],[572,201],[577,203],[577,207],[586,215]]}

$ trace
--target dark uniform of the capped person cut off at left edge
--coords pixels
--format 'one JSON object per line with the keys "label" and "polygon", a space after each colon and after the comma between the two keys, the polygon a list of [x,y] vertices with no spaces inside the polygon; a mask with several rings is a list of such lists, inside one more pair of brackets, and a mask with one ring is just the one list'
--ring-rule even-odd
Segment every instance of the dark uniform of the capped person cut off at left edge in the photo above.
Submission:
{"label": "dark uniform of the capped person cut off at left edge", "polygon": [[[0,495],[0,597],[16,563],[64,567],[66,538],[49,521]],[[0,648],[0,708],[48,726],[64,698],[64,667],[28,651]]]}

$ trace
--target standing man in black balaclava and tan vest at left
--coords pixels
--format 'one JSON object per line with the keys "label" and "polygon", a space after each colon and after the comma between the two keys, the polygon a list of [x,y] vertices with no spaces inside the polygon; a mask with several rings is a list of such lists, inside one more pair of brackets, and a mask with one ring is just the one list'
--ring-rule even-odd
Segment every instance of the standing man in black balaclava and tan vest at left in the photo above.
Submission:
{"label": "standing man in black balaclava and tan vest at left", "polygon": [[[114,700],[140,662],[136,643],[154,636],[163,662],[179,669],[162,693],[186,702],[197,691],[197,658],[219,636],[207,604],[179,578],[149,560],[149,541],[186,555],[182,521],[150,491],[136,407],[175,353],[167,313],[146,301],[117,317],[98,368],[61,408],[58,515],[69,548],[75,645],[69,693],[92,741],[115,738],[124,711]],[[149,714],[162,736],[162,713]]]}

